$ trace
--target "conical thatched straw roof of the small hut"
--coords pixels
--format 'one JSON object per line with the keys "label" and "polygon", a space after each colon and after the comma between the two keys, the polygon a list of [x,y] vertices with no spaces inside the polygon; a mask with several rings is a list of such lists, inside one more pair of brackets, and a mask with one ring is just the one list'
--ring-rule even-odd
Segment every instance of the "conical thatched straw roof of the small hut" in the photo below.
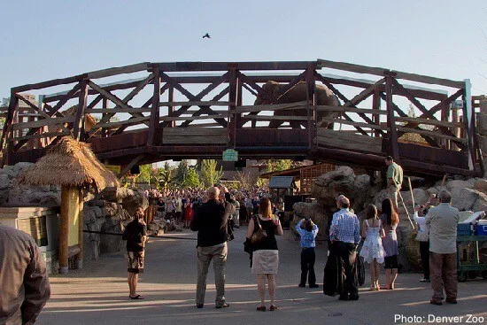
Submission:
{"label": "conical thatched straw roof of the small hut", "polygon": [[119,186],[117,177],[106,169],[89,149],[70,136],[63,137],[34,166],[19,175],[19,182],[30,185],[60,185],[66,187]]}

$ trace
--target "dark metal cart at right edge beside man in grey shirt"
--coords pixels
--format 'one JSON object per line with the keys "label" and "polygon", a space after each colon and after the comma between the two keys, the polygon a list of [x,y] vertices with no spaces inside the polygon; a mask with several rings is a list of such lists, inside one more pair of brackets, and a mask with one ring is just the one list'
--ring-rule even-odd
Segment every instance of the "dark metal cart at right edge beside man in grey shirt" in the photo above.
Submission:
{"label": "dark metal cart at right edge beside man in grey shirt", "polygon": [[[468,253],[462,248],[462,244],[475,244],[474,259],[469,260]],[[480,273],[484,279],[487,279],[487,261],[480,262],[479,242],[487,242],[487,236],[457,236],[457,273],[459,282],[466,282],[468,278],[475,279]],[[465,259],[460,261],[460,258]]]}

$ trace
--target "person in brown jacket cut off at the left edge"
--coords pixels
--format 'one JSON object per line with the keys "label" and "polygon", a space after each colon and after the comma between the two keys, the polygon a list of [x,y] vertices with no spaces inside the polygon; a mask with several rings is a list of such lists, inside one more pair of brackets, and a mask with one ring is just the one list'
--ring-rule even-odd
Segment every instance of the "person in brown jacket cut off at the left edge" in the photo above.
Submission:
{"label": "person in brown jacket cut off at the left edge", "polygon": [[50,283],[34,239],[0,225],[0,324],[34,324]]}

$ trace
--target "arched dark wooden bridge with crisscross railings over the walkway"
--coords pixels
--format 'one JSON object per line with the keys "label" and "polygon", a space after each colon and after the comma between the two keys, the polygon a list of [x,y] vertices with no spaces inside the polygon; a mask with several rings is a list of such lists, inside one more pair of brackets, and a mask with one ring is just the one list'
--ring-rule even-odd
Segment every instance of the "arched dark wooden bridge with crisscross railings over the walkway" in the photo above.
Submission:
{"label": "arched dark wooden bridge with crisscross railings over the walkway", "polygon": [[[267,81],[283,86],[270,94],[262,89]],[[281,103],[300,81],[307,100]],[[318,84],[341,105],[318,104]],[[279,104],[253,105],[258,94]],[[460,109],[452,108],[459,100]],[[284,123],[269,128],[271,120]],[[308,158],[370,170],[383,168],[390,154],[410,174],[483,174],[469,81],[321,59],[141,63],[12,88],[4,164],[35,161],[63,135],[91,143],[98,159],[125,170],[220,159],[232,148],[243,159]]]}

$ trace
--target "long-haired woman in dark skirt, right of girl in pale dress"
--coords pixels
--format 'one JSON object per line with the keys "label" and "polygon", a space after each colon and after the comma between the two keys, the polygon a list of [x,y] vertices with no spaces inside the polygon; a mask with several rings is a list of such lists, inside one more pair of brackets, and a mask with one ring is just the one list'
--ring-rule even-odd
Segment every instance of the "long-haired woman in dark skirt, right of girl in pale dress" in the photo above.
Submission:
{"label": "long-haired woman in dark skirt, right of girl in pale dress", "polygon": [[386,281],[383,289],[393,290],[398,277],[398,235],[396,234],[396,228],[398,228],[399,217],[390,198],[383,200],[382,213],[381,223],[385,231],[383,248],[385,251],[384,268]]}

